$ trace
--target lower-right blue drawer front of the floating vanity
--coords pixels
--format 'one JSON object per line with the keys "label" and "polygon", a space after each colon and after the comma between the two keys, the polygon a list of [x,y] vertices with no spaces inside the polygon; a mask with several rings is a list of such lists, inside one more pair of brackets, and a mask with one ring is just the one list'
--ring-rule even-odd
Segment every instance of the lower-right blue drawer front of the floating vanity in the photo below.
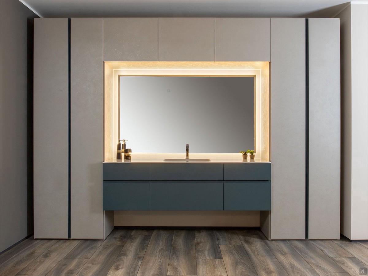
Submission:
{"label": "lower-right blue drawer front of the floating vanity", "polygon": [[271,182],[225,181],[224,210],[271,210]]}

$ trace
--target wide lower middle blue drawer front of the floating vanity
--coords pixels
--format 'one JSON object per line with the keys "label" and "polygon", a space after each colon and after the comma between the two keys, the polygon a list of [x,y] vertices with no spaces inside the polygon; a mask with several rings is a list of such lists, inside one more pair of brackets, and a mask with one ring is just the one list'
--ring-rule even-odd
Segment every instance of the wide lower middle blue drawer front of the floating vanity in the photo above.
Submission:
{"label": "wide lower middle blue drawer front of the floating vanity", "polygon": [[222,181],[151,181],[151,210],[223,210]]}

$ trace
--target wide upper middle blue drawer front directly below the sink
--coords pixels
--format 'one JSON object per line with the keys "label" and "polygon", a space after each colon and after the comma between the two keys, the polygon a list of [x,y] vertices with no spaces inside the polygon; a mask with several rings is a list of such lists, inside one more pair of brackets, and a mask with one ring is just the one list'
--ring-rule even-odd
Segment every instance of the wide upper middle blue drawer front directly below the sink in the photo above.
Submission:
{"label": "wide upper middle blue drawer front directly below the sink", "polygon": [[223,164],[151,164],[151,180],[223,180]]}

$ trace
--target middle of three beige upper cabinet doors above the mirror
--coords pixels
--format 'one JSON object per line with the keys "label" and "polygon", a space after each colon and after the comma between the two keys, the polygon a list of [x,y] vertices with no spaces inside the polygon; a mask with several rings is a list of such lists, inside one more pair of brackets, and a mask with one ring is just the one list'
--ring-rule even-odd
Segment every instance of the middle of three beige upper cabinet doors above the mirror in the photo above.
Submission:
{"label": "middle of three beige upper cabinet doors above the mirror", "polygon": [[160,61],[215,61],[215,18],[160,18]]}

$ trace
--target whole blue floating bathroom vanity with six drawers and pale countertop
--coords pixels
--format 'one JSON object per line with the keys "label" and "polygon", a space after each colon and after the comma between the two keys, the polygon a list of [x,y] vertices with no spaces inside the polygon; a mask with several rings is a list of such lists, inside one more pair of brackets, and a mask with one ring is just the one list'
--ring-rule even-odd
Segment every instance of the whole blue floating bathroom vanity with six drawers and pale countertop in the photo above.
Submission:
{"label": "whole blue floating bathroom vanity with six drawers and pale countertop", "polygon": [[[254,162],[251,162],[254,161]],[[270,162],[103,162],[104,210],[270,210]]]}

